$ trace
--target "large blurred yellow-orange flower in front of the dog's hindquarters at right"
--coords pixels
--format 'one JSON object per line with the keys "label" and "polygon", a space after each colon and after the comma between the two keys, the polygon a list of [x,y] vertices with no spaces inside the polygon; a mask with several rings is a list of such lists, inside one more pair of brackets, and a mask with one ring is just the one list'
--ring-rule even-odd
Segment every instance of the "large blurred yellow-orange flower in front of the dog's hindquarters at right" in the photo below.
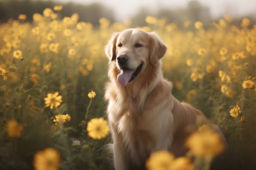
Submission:
{"label": "large blurred yellow-orange flower in front of the dog's hindquarters at right", "polygon": [[194,132],[188,137],[186,146],[198,157],[216,156],[224,149],[221,136],[212,130]]}

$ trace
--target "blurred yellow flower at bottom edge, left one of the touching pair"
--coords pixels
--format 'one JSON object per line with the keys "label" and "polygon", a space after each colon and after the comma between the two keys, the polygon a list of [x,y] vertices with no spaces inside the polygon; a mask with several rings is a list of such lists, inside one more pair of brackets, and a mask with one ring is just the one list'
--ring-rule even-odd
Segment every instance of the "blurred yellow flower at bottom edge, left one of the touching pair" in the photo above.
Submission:
{"label": "blurred yellow flower at bottom edge, left one of the touching pair", "polygon": [[157,151],[150,155],[146,161],[147,170],[170,170],[174,155],[168,151]]}

